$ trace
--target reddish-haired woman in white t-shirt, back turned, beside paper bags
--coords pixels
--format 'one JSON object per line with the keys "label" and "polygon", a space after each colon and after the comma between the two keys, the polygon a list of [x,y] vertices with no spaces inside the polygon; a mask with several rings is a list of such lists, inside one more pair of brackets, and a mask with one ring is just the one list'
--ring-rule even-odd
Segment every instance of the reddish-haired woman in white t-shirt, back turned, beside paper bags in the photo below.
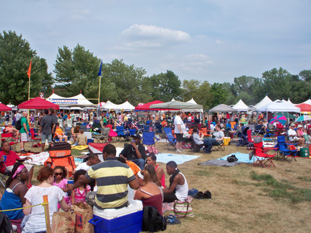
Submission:
{"label": "reddish-haired woman in white t-shirt, back turned, beside paper bags", "polygon": [[[38,205],[43,202],[43,196],[48,195],[48,207],[50,215],[50,223],[52,223],[52,216],[57,212],[57,204],[62,207],[62,210],[68,211],[69,206],[64,200],[64,192],[61,188],[54,186],[54,171],[50,167],[41,168],[38,172],[37,180],[41,183],[37,186],[32,186],[25,195],[26,204],[24,207],[30,205]],[[23,209],[25,215],[29,215],[29,219],[23,227],[23,233],[31,232],[45,232],[46,219],[44,214],[44,207],[41,205]]]}

